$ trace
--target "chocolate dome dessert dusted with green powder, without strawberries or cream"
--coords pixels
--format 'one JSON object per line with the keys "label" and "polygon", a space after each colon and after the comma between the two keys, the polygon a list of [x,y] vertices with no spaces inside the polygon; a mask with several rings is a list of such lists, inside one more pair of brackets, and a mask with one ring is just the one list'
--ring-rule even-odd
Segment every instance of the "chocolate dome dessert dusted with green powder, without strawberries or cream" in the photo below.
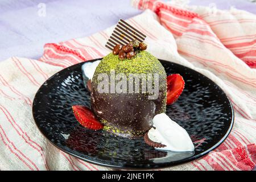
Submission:
{"label": "chocolate dome dessert dusted with green powder, without strawberries or cream", "polygon": [[[166,112],[166,72],[156,57],[147,51],[142,51],[145,49],[144,47],[140,50],[139,48],[134,48],[130,52],[127,52],[129,48],[124,49],[124,51],[123,47],[115,48],[113,53],[109,53],[101,60],[94,72],[91,82],[91,107],[94,114],[104,123],[106,131],[122,137],[139,137],[151,128],[152,118],[156,114]],[[138,84],[136,82],[138,80],[131,79],[130,75],[152,75],[155,79],[152,81],[152,87],[158,86],[157,97],[152,99],[149,97],[152,96],[152,92],[148,90],[143,92],[142,80],[139,81],[139,92],[130,92],[130,90],[124,92],[126,88],[129,88],[129,81],[127,82],[127,87],[121,86],[123,89],[121,92],[116,90],[113,92],[110,88],[113,83],[110,80],[113,76],[120,75],[119,73],[122,76],[126,76],[127,80],[132,82],[131,85],[134,88],[135,84]],[[109,77],[109,88],[104,88],[108,92],[104,93],[98,90],[99,86],[102,86],[102,80],[99,80],[102,74]],[[154,74],[158,75],[157,85],[154,85],[154,81],[156,81]],[[147,77],[148,80],[149,78]],[[119,78],[114,78],[115,85],[119,81]]]}

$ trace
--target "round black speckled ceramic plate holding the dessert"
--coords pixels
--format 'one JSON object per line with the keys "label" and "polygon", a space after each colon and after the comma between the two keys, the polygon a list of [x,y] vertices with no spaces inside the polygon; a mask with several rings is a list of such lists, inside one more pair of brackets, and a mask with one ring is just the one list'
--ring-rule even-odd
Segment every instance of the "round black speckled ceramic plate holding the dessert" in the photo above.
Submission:
{"label": "round black speckled ceramic plate holding the dessert", "polygon": [[[92,60],[95,61],[95,60]],[[106,131],[82,127],[72,105],[90,107],[90,94],[82,81],[81,65],[63,69],[40,87],[33,115],[42,134],[60,150],[93,164],[115,168],[162,168],[198,159],[218,147],[233,126],[233,109],[225,93],[209,78],[179,64],[160,60],[167,75],[185,80],[180,98],[166,114],[187,130],[195,152],[159,151],[143,138],[115,137]]]}

